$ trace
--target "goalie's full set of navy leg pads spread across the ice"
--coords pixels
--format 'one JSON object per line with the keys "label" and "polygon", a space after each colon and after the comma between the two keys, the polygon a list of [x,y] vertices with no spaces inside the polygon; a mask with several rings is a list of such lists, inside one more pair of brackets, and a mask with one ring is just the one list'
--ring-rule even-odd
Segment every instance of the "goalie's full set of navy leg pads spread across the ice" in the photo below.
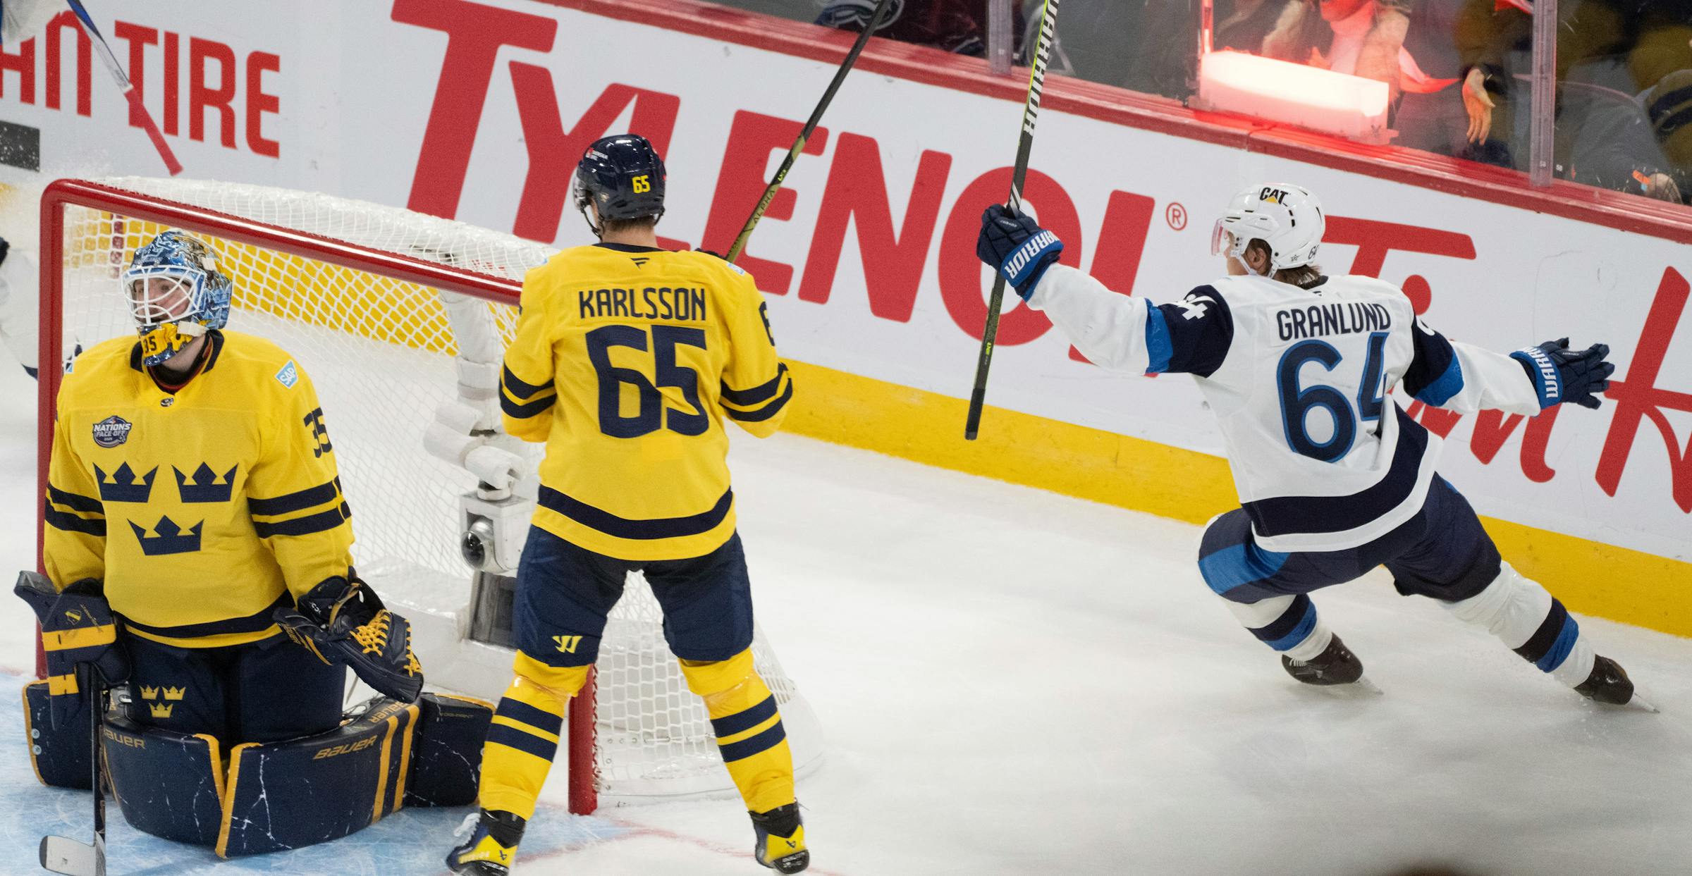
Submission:
{"label": "goalie's full set of navy leg pads spread across the ice", "polygon": [[[88,724],[52,729],[47,700],[46,680],[24,687],[36,776],[44,785],[88,788]],[[215,737],[110,714],[102,751],[130,825],[235,857],[345,837],[404,805],[472,803],[491,719],[492,707],[481,700],[376,697],[330,732],[235,746],[225,775]]]}

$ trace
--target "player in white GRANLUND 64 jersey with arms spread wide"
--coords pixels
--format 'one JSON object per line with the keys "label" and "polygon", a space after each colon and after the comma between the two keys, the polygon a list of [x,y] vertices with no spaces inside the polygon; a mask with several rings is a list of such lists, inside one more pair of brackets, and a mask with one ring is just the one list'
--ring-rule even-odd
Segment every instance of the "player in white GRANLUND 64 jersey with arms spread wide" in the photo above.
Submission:
{"label": "player in white GRANLUND 64 jersey with arms spread wide", "polygon": [[1506,355],[1450,342],[1399,287],[1323,276],[1323,228],[1321,203],[1299,186],[1240,191],[1211,240],[1228,276],[1173,304],[1056,264],[1063,242],[1003,206],[981,216],[976,252],[1091,362],[1196,379],[1240,495],[1205,529],[1200,573],[1293,678],[1369,687],[1308,594],[1386,565],[1401,594],[1440,600],[1584,697],[1645,705],[1562,602],[1499,558],[1435,470],[1440,438],[1391,397],[1401,386],[1399,397],[1464,413],[1597,408],[1609,348],[1563,338]]}

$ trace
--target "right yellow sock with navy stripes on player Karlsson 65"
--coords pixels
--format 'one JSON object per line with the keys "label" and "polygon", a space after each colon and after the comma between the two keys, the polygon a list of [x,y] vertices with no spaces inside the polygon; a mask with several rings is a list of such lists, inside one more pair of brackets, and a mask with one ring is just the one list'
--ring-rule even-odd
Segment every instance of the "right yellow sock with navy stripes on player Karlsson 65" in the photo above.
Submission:
{"label": "right yellow sock with navy stripes on player Karlsson 65", "polygon": [[794,802],[794,756],[775,697],[751,666],[751,651],[719,663],[682,661],[687,687],[706,700],[722,764],[746,808],[770,812]]}

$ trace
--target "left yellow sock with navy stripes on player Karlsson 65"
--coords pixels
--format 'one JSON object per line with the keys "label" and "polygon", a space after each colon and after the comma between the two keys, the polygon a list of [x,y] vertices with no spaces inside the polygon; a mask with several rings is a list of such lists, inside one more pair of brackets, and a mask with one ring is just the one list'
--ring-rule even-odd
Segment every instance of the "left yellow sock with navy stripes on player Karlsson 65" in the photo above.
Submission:
{"label": "left yellow sock with navy stripes on player Karlsson 65", "polygon": [[582,690],[589,668],[547,666],[519,651],[513,670],[482,746],[481,803],[528,820],[558,753],[565,704]]}

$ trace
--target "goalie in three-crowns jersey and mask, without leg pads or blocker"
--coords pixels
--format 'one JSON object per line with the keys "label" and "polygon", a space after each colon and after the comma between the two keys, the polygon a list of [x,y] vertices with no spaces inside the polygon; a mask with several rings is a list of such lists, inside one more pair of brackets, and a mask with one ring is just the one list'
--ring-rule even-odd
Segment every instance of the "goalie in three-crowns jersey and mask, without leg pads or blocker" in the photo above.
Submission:
{"label": "goalie in three-crowns jersey and mask, without leg pads or blocker", "polygon": [[[233,279],[195,237],[137,249],[122,289],[140,340],[91,347],[59,387],[42,560],[120,619],[129,717],[225,746],[318,734],[340,724],[342,663],[415,698],[404,621],[352,570],[311,379],[222,330]],[[349,646],[367,624],[381,654]]]}

